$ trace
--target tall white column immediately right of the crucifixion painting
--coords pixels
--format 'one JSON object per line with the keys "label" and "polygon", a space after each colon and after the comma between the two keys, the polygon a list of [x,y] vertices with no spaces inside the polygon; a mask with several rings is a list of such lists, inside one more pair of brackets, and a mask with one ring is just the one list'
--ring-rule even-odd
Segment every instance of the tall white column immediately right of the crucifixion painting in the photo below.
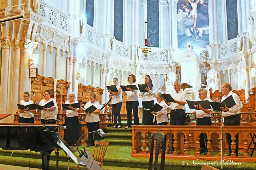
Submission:
{"label": "tall white column immediately right of the crucifixion painting", "polygon": [[210,44],[214,43],[214,0],[208,0],[208,15],[209,15],[209,42]]}

